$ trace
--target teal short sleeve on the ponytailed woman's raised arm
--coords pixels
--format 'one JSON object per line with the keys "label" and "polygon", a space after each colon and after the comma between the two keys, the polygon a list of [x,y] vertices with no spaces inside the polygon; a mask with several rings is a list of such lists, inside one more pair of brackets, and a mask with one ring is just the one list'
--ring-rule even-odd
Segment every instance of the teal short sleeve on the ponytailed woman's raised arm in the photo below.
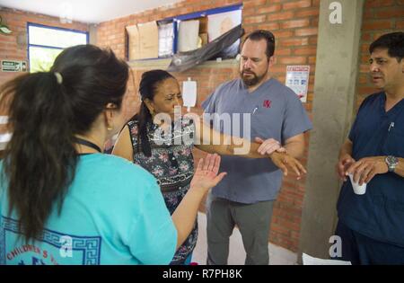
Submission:
{"label": "teal short sleeve on the ponytailed woman's raised arm", "polygon": [[177,229],[156,182],[139,208],[128,246],[142,264],[169,264],[177,247]]}

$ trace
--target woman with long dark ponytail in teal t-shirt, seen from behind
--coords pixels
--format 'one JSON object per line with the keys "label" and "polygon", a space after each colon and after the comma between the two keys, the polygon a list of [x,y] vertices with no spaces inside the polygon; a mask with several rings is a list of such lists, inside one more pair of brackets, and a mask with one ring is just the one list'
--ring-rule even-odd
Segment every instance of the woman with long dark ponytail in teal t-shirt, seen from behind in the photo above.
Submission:
{"label": "woman with long dark ponytail in teal t-shirt, seen from behind", "polygon": [[[170,217],[154,177],[102,155],[122,128],[128,66],[92,45],[0,88],[13,137],[0,162],[0,264],[166,264],[187,238],[220,158],[200,161]],[[163,236],[162,236],[163,235]]]}

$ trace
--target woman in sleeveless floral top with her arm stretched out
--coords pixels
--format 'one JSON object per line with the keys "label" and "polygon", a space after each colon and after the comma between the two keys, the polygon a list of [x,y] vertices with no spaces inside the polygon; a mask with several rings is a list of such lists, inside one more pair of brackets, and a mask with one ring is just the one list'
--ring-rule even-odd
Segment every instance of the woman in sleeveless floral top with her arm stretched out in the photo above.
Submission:
{"label": "woman in sleeveless floral top with her arm stretched out", "polygon": [[[178,208],[194,176],[193,146],[219,155],[270,158],[284,172],[287,172],[286,166],[292,168],[298,176],[305,172],[302,164],[285,154],[285,149],[279,145],[261,150],[259,143],[218,133],[198,117],[180,117],[176,113],[176,109],[180,109],[183,104],[180,85],[166,71],[145,72],[139,93],[142,98],[140,111],[120,132],[112,154],[139,164],[154,174],[170,213]],[[202,134],[206,132],[210,134]],[[237,148],[241,145],[248,148],[242,155],[242,151]],[[171,264],[189,264],[197,239],[198,223],[195,222],[191,234],[178,249]]]}

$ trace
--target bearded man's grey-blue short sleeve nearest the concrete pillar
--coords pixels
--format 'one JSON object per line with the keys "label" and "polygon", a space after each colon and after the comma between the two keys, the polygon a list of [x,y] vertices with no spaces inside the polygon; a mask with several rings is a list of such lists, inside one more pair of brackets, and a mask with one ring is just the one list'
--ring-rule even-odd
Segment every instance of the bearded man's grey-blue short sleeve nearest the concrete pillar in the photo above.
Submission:
{"label": "bearded man's grey-blue short sleeve nearest the concrete pillar", "polygon": [[282,142],[312,129],[312,121],[307,116],[302,102],[293,91],[290,90],[290,92],[285,93],[286,108],[282,126]]}

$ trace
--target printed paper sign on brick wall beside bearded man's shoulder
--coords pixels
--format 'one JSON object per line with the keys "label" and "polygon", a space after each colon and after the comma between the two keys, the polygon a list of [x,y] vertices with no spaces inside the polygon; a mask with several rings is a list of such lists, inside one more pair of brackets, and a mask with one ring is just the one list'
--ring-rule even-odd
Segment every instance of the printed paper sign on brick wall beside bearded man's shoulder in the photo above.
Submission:
{"label": "printed paper sign on brick wall beside bearded man's shoulder", "polygon": [[301,102],[307,101],[309,87],[310,66],[287,66],[286,86],[290,87],[299,96]]}

